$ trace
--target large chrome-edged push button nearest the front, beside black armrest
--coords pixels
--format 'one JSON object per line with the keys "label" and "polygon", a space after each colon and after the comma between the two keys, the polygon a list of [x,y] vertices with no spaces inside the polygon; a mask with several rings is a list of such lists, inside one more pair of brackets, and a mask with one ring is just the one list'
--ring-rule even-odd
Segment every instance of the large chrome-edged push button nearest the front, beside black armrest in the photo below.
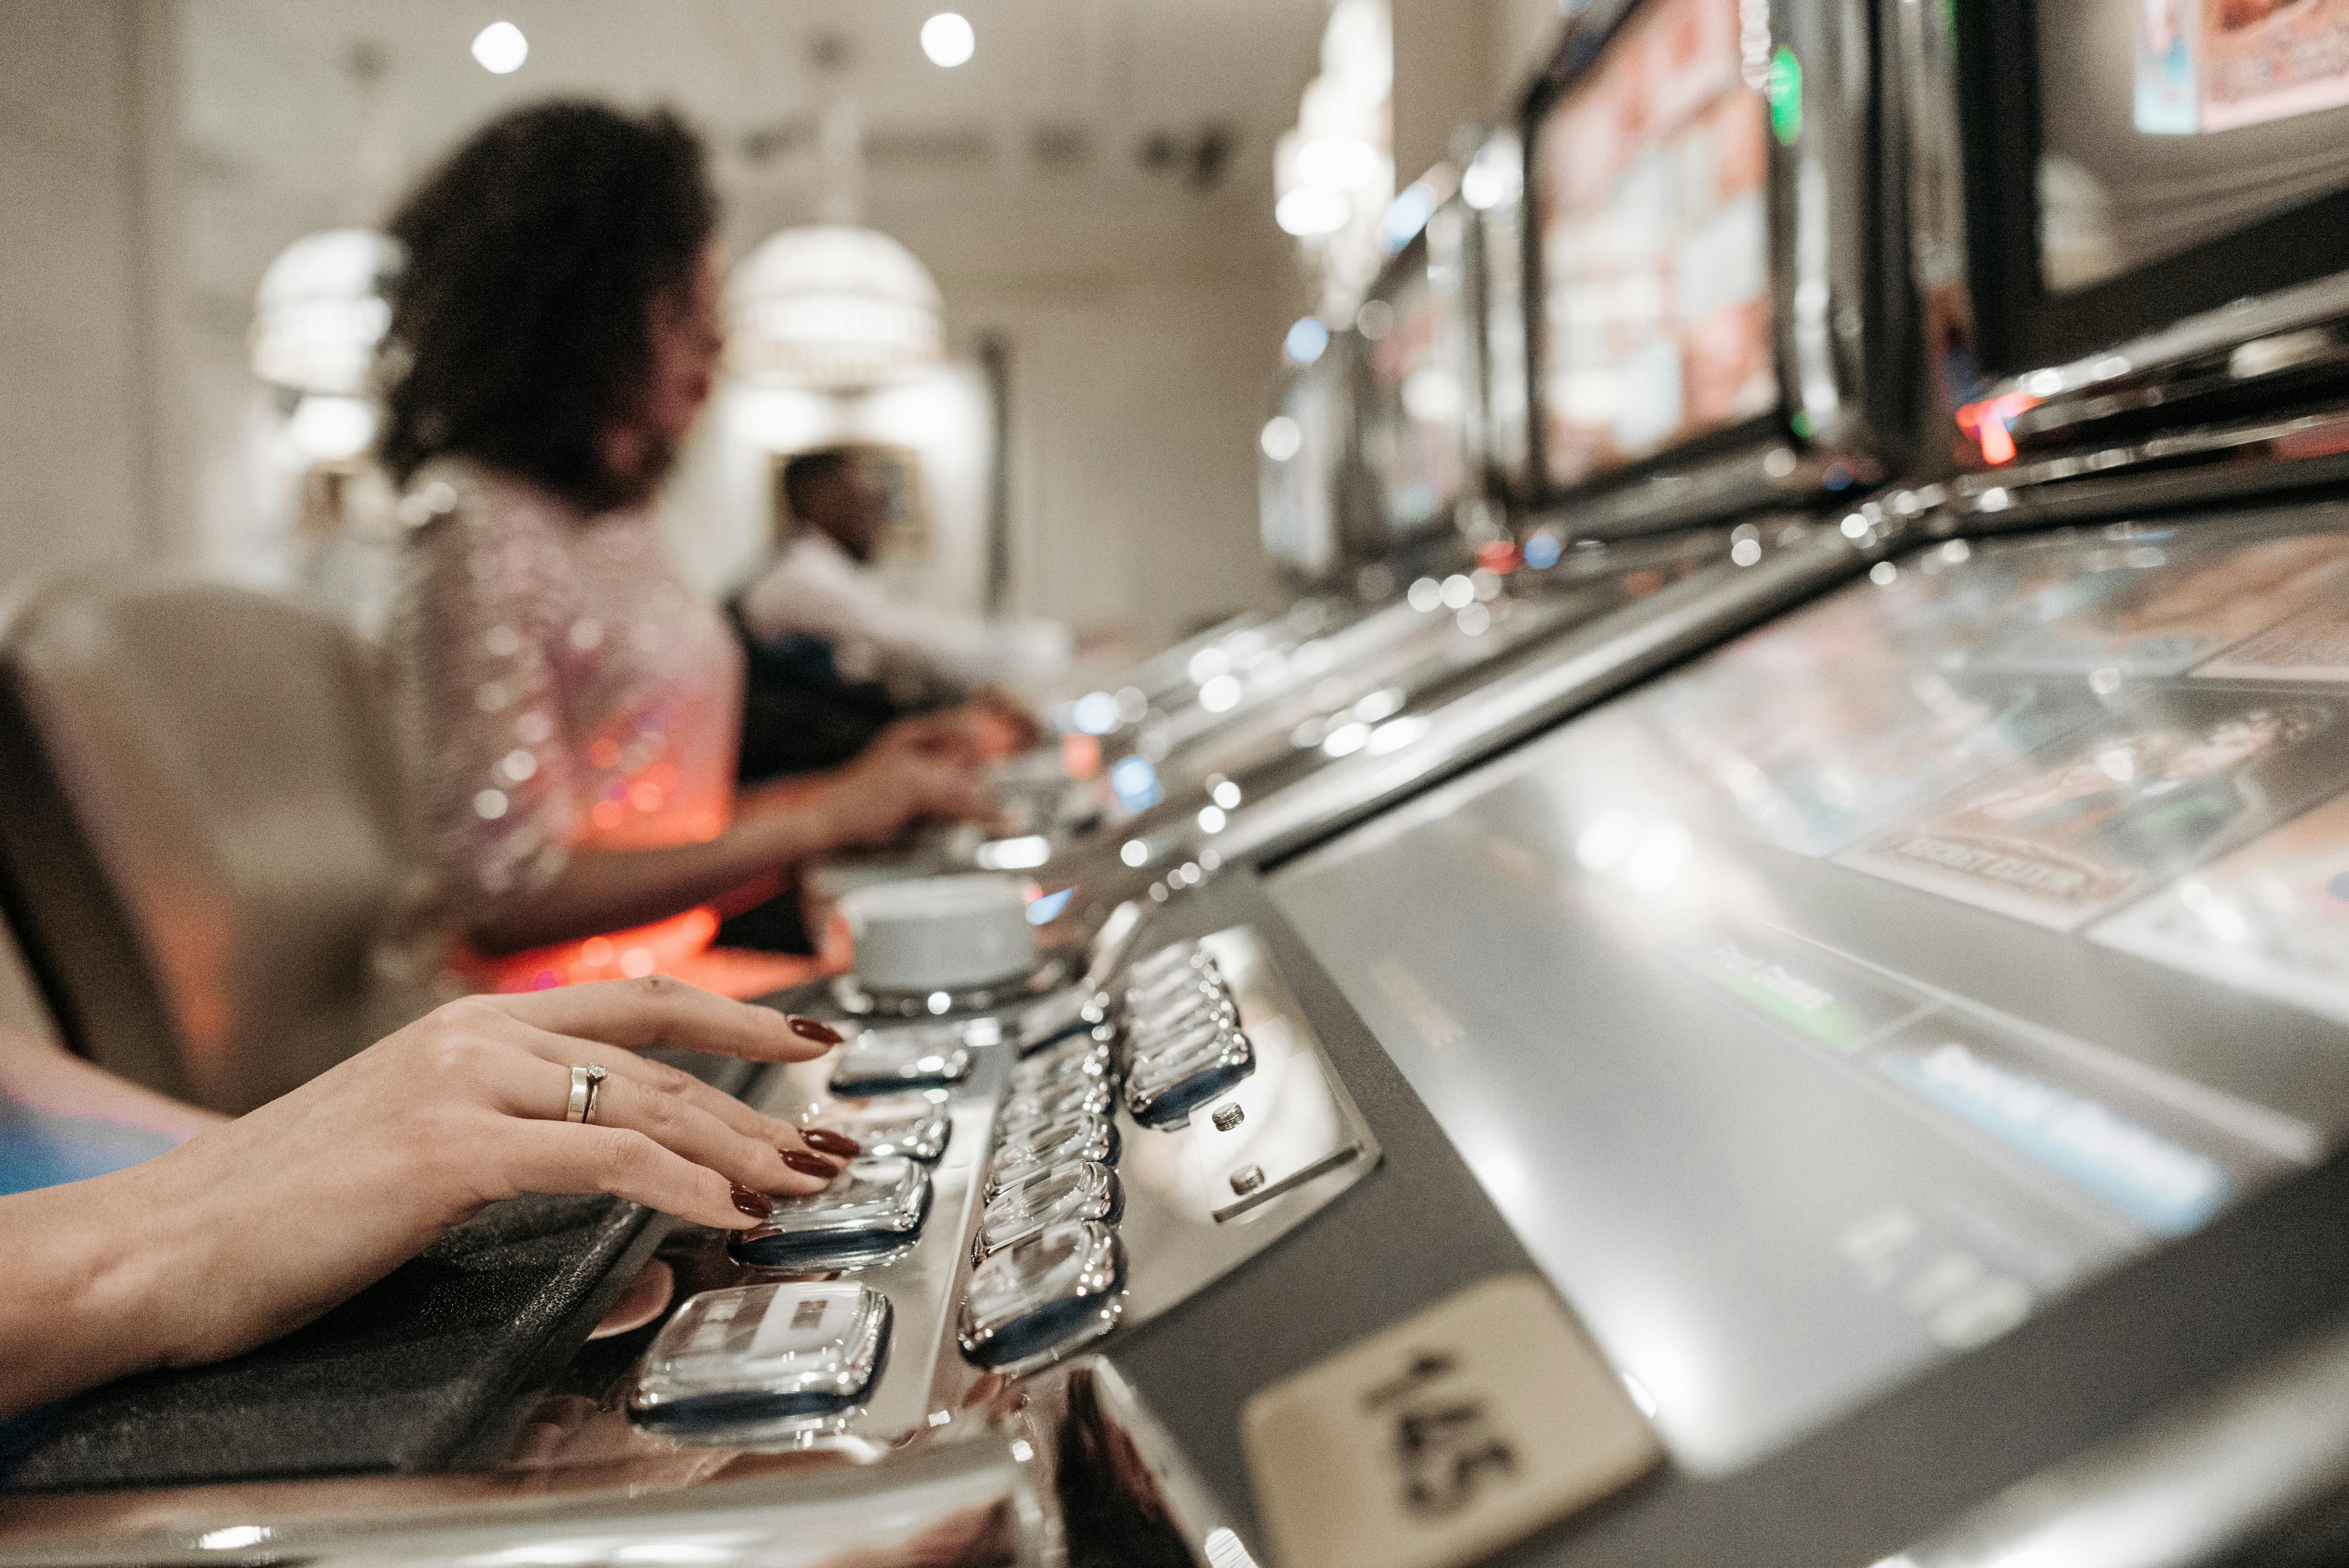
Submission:
{"label": "large chrome-edged push button nearest the front, beside black armrest", "polygon": [[637,1373],[627,1415],[686,1439],[752,1439],[822,1425],[871,1392],[890,1305],[862,1284],[745,1284],[695,1296]]}

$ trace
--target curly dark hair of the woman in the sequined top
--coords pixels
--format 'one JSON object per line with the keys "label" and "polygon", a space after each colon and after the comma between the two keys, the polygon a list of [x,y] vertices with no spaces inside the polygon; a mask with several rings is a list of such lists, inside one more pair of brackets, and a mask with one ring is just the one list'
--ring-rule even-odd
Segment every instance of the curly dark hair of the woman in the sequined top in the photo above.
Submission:
{"label": "curly dark hair of the woman in the sequined top", "polygon": [[390,223],[392,479],[453,453],[587,512],[641,500],[597,437],[641,397],[653,305],[691,289],[714,230],[702,143],[667,110],[552,101],[474,131]]}

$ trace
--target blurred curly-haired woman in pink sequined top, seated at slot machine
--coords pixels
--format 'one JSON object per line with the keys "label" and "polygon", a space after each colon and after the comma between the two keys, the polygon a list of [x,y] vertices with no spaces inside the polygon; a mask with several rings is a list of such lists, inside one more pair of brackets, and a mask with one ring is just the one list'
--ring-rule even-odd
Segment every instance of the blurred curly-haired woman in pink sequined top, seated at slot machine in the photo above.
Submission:
{"label": "blurred curly-haired woman in pink sequined top, seated at slot machine", "polygon": [[773,932],[749,906],[808,857],[987,812],[954,721],[735,798],[740,646],[651,514],[723,345],[714,228],[695,136],[597,103],[489,124],[390,225],[395,704],[432,908],[474,984],[806,979],[728,953],[719,908]]}

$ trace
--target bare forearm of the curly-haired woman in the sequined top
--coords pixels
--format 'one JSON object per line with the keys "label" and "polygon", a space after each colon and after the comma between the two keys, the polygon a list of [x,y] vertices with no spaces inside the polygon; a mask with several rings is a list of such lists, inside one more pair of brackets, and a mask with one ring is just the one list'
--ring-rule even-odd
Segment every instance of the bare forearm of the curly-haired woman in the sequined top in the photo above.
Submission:
{"label": "bare forearm of the curly-haired woman in the sequined top", "polygon": [[470,937],[484,953],[519,953],[665,920],[829,845],[824,817],[796,810],[745,819],[698,845],[578,850],[559,878],[510,899],[474,922]]}

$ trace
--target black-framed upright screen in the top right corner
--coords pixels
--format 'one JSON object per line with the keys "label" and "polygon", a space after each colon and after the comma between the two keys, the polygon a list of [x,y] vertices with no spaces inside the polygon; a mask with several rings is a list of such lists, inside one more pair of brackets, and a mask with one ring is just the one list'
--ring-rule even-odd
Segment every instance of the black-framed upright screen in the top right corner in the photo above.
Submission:
{"label": "black-framed upright screen in the top right corner", "polygon": [[1961,42],[1994,369],[2349,268],[2349,0],[1992,0],[1980,16]]}

